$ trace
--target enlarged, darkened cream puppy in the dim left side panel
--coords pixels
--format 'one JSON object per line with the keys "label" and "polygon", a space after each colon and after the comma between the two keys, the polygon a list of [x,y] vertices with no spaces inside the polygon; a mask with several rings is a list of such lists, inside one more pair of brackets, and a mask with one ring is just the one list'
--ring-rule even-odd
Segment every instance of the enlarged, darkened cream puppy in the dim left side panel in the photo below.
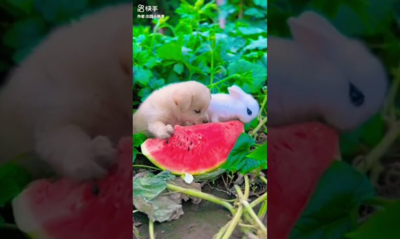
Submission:
{"label": "enlarged, darkened cream puppy in the dim left side panel", "polygon": [[0,92],[0,163],[34,151],[72,179],[108,173],[113,145],[132,132],[132,12],[108,7],[60,27],[15,69]]}

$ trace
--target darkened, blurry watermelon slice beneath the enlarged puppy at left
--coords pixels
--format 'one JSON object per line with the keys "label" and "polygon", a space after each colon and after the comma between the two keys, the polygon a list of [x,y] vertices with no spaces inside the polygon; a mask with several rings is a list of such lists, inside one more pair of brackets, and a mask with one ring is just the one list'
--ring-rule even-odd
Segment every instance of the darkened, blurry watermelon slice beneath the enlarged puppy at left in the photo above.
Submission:
{"label": "darkened, blurry watermelon slice beneath the enlarged puppy at left", "polygon": [[32,182],[13,200],[18,227],[37,239],[132,239],[132,138],[102,180]]}

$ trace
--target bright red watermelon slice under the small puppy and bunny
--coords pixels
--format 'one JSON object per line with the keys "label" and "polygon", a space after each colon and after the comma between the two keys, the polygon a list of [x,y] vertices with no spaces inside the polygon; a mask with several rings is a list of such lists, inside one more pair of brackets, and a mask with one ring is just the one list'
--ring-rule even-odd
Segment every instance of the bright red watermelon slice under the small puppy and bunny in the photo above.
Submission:
{"label": "bright red watermelon slice under the small puppy and bunny", "polygon": [[244,125],[240,121],[206,123],[174,128],[169,139],[147,139],[142,153],[156,166],[174,174],[197,175],[226,161]]}

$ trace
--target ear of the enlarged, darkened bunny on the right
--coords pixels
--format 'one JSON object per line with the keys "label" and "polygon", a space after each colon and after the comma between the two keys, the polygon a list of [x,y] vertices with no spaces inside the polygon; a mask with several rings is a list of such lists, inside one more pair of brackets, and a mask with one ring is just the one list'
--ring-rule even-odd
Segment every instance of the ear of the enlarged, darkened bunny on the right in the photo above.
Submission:
{"label": "ear of the enlarged, darkened bunny on the right", "polygon": [[347,40],[328,20],[311,11],[289,18],[288,24],[293,40],[311,53],[323,54]]}

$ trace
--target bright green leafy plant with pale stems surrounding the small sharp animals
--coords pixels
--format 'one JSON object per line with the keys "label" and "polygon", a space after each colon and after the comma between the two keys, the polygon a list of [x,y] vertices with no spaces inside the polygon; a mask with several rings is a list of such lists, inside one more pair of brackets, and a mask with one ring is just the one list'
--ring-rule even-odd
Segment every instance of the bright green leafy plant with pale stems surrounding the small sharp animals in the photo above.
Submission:
{"label": "bright green leafy plant with pale stems surrounding the small sharp animals", "polygon": [[[243,4],[242,0],[229,0],[222,6],[217,6],[215,1],[204,0],[176,3],[152,1],[166,15],[164,19],[151,20],[152,27],[143,26],[149,21],[134,20],[137,24],[133,24],[133,111],[154,90],[185,80],[199,81],[212,93],[227,93],[227,87],[236,84],[252,94],[259,101],[260,113],[245,125],[246,133],[238,139],[227,162],[213,172],[195,176],[198,181],[214,182],[225,173],[232,180],[233,172],[241,172],[245,179],[244,195],[242,193],[235,199],[237,203],[231,204],[213,195],[172,183],[167,183],[167,189],[224,206],[235,217],[231,225],[237,226],[238,220],[242,219],[252,226],[250,229],[240,226],[244,232],[264,238],[267,229],[261,219],[267,211],[267,193],[251,206],[244,201],[247,202],[249,197],[248,174],[254,173],[265,179],[260,171],[267,169],[267,144],[257,140],[260,134],[267,133],[266,1],[251,0]],[[171,6],[175,6],[175,11]],[[219,25],[218,15],[226,19],[224,28]],[[138,150],[134,150],[136,163],[142,158],[138,154]],[[148,165],[133,166],[157,169]],[[264,183],[267,184],[266,179]],[[233,191],[242,192],[236,188]],[[258,204],[262,207],[257,215],[251,208]],[[152,221],[149,221],[149,230],[152,237]],[[228,238],[231,234],[232,226],[226,225],[216,238]]]}

